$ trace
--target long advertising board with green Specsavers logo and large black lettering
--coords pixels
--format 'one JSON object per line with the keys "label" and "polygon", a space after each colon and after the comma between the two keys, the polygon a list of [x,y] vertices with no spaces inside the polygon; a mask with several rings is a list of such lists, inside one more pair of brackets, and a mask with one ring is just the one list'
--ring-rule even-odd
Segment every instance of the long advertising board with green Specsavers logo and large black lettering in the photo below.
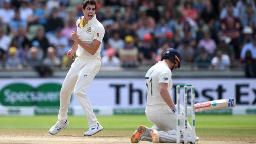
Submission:
{"label": "long advertising board with green Specsavers logo and large black lettering", "polygon": [[[2,106],[59,106],[59,91],[64,78],[0,79]],[[173,79],[172,99],[176,102],[176,85],[195,85],[195,102],[236,98],[236,104],[256,105],[256,79]],[[181,96],[182,91],[181,89]],[[96,78],[86,92],[93,106],[116,108],[145,107],[147,91],[144,78]],[[190,88],[188,87],[188,96]],[[190,99],[188,100],[190,102]],[[70,107],[79,106],[72,96]]]}

